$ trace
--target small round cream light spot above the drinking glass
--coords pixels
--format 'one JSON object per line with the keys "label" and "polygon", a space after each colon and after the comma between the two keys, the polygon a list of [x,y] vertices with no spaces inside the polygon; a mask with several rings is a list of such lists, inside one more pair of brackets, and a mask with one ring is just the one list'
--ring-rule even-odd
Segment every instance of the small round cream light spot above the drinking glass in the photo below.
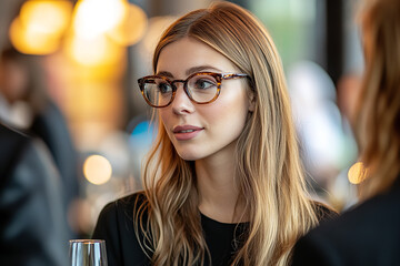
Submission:
{"label": "small round cream light spot above the drinking glass", "polygon": [[101,155],[91,155],[83,163],[84,177],[94,185],[107,183],[111,178],[110,162]]}

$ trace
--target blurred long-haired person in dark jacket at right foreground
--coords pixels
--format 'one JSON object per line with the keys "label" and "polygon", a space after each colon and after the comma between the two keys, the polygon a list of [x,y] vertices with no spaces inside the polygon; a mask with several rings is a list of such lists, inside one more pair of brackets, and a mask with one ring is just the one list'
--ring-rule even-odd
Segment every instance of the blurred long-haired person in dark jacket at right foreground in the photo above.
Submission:
{"label": "blurred long-haired person in dark jacket at right foreground", "polygon": [[360,203],[301,238],[293,265],[400,265],[400,1],[364,1],[361,28]]}

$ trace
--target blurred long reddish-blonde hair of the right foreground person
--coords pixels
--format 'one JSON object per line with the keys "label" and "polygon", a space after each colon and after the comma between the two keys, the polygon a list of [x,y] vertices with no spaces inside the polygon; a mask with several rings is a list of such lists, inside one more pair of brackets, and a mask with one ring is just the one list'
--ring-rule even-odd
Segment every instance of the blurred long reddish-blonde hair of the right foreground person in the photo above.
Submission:
{"label": "blurred long reddish-blonde hair of the right foreground person", "polygon": [[356,124],[368,177],[362,198],[388,190],[400,173],[400,1],[367,1],[361,14],[366,71]]}

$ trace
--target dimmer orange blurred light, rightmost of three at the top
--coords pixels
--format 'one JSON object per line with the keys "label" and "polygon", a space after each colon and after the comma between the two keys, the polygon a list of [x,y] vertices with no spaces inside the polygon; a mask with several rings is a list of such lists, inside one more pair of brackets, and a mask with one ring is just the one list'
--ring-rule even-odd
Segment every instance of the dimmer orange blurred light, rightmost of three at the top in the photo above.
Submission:
{"label": "dimmer orange blurred light, rightmost of three at the top", "polygon": [[126,7],[123,19],[108,34],[120,45],[132,45],[144,34],[148,19],[140,7],[128,2],[123,4]]}

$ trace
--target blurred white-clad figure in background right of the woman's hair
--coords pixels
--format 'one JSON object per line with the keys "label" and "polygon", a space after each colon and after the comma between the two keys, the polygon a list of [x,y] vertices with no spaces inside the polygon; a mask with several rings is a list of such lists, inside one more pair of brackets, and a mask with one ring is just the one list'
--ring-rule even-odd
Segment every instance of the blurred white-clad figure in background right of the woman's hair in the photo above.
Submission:
{"label": "blurred white-clad figure in background right of the woman's hair", "polygon": [[329,202],[332,182],[356,153],[341,126],[333,81],[319,64],[299,61],[289,68],[288,88],[310,191]]}

